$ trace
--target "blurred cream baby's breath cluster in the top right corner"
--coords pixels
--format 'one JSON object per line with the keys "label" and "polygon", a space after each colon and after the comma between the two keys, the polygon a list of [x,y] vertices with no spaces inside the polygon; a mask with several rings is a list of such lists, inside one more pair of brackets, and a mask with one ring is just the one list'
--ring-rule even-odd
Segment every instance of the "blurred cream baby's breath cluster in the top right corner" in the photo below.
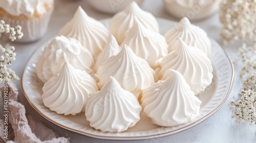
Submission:
{"label": "blurred cream baby's breath cluster in the top right corner", "polygon": [[221,37],[224,43],[254,39],[256,34],[256,2],[223,0],[220,5]]}

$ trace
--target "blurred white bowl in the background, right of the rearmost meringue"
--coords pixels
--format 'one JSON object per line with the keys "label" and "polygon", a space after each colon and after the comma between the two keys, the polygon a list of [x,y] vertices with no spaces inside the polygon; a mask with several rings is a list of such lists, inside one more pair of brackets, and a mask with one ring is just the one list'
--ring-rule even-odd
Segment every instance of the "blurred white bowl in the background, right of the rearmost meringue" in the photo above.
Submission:
{"label": "blurred white bowl in the background, right of the rearmost meringue", "polygon": [[219,10],[222,0],[162,0],[165,10],[177,17],[200,20],[213,15]]}

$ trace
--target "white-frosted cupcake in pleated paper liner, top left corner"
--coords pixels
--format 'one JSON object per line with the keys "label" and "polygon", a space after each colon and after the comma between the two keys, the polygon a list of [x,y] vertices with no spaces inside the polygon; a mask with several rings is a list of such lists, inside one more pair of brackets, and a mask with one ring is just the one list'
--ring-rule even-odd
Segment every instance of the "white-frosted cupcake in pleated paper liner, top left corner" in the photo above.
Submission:
{"label": "white-frosted cupcake in pleated paper liner, top left corner", "polygon": [[53,0],[1,0],[0,19],[22,27],[24,36],[17,42],[32,42],[46,33],[53,9]]}

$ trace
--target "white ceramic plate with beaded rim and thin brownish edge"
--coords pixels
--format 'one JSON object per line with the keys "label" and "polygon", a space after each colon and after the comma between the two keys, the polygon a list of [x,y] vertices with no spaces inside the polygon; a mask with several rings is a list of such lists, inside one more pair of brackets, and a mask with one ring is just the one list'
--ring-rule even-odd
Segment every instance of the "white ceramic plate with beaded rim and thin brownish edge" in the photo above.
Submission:
{"label": "white ceramic plate with beaded rim and thin brownish edge", "polygon": [[[161,34],[176,25],[176,22],[174,21],[161,18],[157,18],[157,20],[159,22]],[[110,19],[104,19],[102,22],[108,27]],[[24,95],[31,106],[50,122],[67,130],[95,138],[137,140],[162,137],[184,131],[206,120],[207,117],[219,110],[228,98],[233,85],[234,73],[232,63],[222,47],[215,40],[211,39],[212,56],[210,60],[214,67],[214,79],[212,80],[211,85],[206,88],[205,92],[199,96],[199,99],[202,101],[199,117],[180,126],[160,127],[152,124],[150,118],[141,112],[141,120],[134,127],[121,133],[101,132],[89,126],[89,122],[86,120],[84,112],[75,116],[65,116],[51,111],[42,103],[41,89],[43,84],[36,76],[35,66],[43,47],[46,46],[50,40],[51,39],[40,45],[27,62],[22,76],[22,89]]]}

